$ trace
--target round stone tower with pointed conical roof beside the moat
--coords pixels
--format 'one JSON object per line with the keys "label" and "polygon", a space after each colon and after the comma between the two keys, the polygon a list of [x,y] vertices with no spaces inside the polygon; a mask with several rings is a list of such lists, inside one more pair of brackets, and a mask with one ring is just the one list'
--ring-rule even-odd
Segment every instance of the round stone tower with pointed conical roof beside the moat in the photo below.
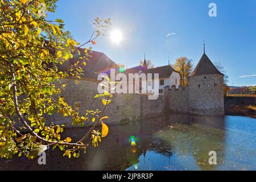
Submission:
{"label": "round stone tower with pointed conical roof beside the moat", "polygon": [[224,75],[205,51],[188,82],[189,113],[224,115]]}

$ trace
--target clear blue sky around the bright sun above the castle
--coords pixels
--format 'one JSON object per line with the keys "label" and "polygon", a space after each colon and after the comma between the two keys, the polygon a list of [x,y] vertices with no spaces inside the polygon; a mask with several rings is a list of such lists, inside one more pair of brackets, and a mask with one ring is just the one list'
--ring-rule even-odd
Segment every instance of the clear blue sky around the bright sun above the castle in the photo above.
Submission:
{"label": "clear blue sky around the bright sun above the castle", "polygon": [[[211,2],[217,17],[208,15]],[[115,63],[137,66],[146,52],[156,67],[167,65],[168,57],[174,64],[180,56],[196,65],[205,40],[208,57],[225,67],[229,85],[256,85],[255,0],[60,0],[57,6],[48,18],[63,19],[80,43],[89,39],[96,17],[111,18],[109,32],[119,29],[124,39],[117,45],[107,35],[93,49]]]}

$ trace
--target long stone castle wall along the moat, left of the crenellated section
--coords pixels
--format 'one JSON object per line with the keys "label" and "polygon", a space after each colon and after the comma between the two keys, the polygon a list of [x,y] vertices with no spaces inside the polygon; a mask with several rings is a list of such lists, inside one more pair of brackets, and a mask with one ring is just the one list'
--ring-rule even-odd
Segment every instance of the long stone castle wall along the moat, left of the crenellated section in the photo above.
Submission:
{"label": "long stone castle wall along the moat, left of the crenellated section", "polygon": [[[61,96],[70,106],[74,106],[75,101],[81,102],[80,115],[84,115],[86,110],[102,110],[102,98],[93,98],[97,92],[97,86],[100,82],[91,80],[64,79],[63,84],[67,86],[62,90]],[[163,113],[163,96],[158,100],[148,100],[145,94],[114,94],[111,104],[106,107],[106,123],[119,123],[123,121],[133,121],[135,119],[161,115]],[[76,127],[72,125],[71,117],[63,117],[61,114],[47,116],[48,121],[59,125],[65,124],[67,127]],[[92,125],[92,122],[85,123]]]}

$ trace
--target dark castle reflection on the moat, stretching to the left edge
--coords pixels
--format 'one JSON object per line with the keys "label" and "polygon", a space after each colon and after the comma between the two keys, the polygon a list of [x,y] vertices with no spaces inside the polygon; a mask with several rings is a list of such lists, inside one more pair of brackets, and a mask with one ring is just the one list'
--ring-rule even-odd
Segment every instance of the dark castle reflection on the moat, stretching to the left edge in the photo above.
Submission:
{"label": "dark castle reflection on the moat, stretching to the left edge", "polygon": [[[76,139],[84,133],[84,130],[70,129],[67,135]],[[49,152],[46,166],[39,166],[36,160],[20,158],[13,159],[5,165],[0,161],[0,166],[6,169],[27,170],[125,170],[143,163],[144,157],[146,156],[147,159],[147,155],[151,152],[166,157],[170,165],[176,155],[189,155],[193,158],[195,166],[192,169],[216,169],[216,166],[210,166],[208,163],[209,151],[217,152],[218,164],[223,163],[224,160],[225,123],[222,117],[171,115],[170,118],[151,118],[113,125],[110,126],[110,131],[98,148],[90,147],[86,154],[81,152],[79,159],[64,160],[61,152],[55,150]],[[131,136],[137,138],[136,150],[131,147],[129,141]],[[189,167],[191,164],[184,165]]]}

